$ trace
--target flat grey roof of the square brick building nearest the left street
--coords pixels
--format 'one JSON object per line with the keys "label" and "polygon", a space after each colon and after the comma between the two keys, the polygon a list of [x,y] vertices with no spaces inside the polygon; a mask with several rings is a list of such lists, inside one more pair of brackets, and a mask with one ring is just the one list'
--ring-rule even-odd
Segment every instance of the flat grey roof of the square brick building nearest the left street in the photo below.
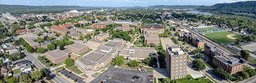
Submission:
{"label": "flat grey roof of the square brick building nearest the left street", "polygon": [[67,55],[67,53],[65,53],[59,49],[48,51],[48,52],[46,52],[46,54],[53,57],[54,59]]}

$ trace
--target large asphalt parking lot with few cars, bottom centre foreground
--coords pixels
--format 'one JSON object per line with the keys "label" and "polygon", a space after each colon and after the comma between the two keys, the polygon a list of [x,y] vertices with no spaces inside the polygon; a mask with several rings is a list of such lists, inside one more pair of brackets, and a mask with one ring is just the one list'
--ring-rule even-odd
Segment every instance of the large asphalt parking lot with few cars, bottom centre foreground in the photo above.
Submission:
{"label": "large asphalt parking lot with few cars, bottom centre foreground", "polygon": [[[139,76],[139,79],[132,79],[134,76]],[[153,77],[153,71],[139,72],[138,70],[116,68],[113,65],[109,66],[108,70],[104,71],[101,75],[95,78],[91,83],[100,83],[101,81],[109,83],[153,83],[149,81]]]}

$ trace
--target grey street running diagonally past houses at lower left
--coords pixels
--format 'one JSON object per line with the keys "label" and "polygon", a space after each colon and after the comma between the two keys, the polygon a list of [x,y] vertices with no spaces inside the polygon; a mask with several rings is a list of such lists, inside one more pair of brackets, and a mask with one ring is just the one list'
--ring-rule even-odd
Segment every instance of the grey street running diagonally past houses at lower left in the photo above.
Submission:
{"label": "grey street running diagonally past houses at lower left", "polygon": [[[21,45],[22,49],[24,48],[22,45]],[[27,50],[24,48],[23,51],[26,51],[24,52],[26,54],[26,57],[28,60],[31,60],[31,61],[35,61],[35,66],[39,69],[41,68],[45,68],[46,66],[42,65],[37,59],[37,55],[31,55],[30,53],[27,52]],[[71,83],[69,82],[68,80],[66,80],[65,78],[63,77],[58,77],[57,75],[55,75],[54,73],[51,73],[51,71],[49,69],[47,69],[47,72],[50,73],[50,75],[52,75],[53,79],[52,81],[55,82],[55,83]]]}

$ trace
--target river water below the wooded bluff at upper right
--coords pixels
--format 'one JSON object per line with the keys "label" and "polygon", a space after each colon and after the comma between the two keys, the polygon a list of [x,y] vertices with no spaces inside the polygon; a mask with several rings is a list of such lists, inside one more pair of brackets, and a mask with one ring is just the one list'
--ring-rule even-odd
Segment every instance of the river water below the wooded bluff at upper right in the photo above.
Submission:
{"label": "river water below the wooded bluff at upper right", "polygon": [[200,15],[214,15],[214,16],[225,16],[225,17],[238,17],[240,19],[250,20],[256,23],[256,18],[253,17],[247,17],[247,16],[240,16],[240,15],[231,15],[231,14],[223,14],[223,13],[214,13],[214,12],[202,12],[202,11],[186,11],[187,13],[192,14],[200,14]]}

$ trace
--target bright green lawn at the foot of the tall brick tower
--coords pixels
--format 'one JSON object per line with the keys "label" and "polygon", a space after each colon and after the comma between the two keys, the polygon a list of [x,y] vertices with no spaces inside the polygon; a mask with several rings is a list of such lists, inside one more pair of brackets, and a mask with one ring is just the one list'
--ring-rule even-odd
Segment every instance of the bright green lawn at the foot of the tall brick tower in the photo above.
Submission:
{"label": "bright green lawn at the foot of the tall brick tower", "polygon": [[[163,83],[162,80],[163,78],[158,79],[158,83]],[[187,75],[187,77],[185,78],[179,78],[179,79],[175,79],[175,80],[179,80],[180,83],[212,83],[211,80],[209,79],[205,79],[203,77],[199,77],[199,78],[193,78],[191,75]]]}

